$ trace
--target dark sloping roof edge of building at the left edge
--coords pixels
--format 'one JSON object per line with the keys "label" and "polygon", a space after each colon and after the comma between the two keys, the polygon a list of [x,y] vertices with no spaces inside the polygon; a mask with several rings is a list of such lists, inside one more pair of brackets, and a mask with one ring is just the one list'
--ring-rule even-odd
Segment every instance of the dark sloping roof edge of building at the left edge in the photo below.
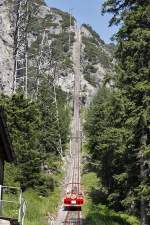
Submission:
{"label": "dark sloping roof edge of building at the left edge", "polygon": [[15,158],[15,154],[4,118],[4,110],[0,107],[0,153],[2,154],[4,160],[7,162],[12,162]]}

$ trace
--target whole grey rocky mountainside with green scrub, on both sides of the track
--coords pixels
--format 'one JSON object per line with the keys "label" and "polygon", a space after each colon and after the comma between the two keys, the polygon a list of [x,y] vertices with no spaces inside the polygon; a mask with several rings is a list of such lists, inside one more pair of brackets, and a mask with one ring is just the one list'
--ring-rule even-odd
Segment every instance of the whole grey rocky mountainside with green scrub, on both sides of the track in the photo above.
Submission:
{"label": "whole grey rocky mountainside with green scrub, on both sides of the track", "polygon": [[[7,2],[7,4],[6,4]],[[0,87],[4,94],[10,95],[13,86],[13,48],[14,28],[12,18],[12,6],[8,0],[0,0]],[[57,85],[67,93],[73,93],[74,71],[73,71],[73,44],[75,41],[76,20],[70,14],[59,9],[49,8],[43,0],[35,0],[37,13],[32,14],[28,27],[28,93],[34,92],[37,72],[37,59],[39,59],[42,46],[43,33],[47,30],[48,45],[44,52],[47,57],[50,54],[54,61],[58,61]],[[34,9],[35,9],[34,6]],[[107,73],[112,71],[113,57],[109,45],[106,45],[100,36],[89,26],[81,26],[81,98],[83,103],[88,104],[95,95],[99,86],[103,83]],[[70,36],[70,44],[69,44]],[[47,51],[51,46],[51,53]],[[43,51],[43,50],[42,50]],[[53,53],[54,52],[54,53]],[[54,55],[53,55],[54,54]],[[31,57],[32,56],[32,57]],[[44,66],[48,64],[44,58]],[[47,71],[49,73],[49,66]],[[31,79],[30,79],[31,77]],[[34,81],[35,77],[35,81]],[[30,93],[32,96],[32,93]]]}

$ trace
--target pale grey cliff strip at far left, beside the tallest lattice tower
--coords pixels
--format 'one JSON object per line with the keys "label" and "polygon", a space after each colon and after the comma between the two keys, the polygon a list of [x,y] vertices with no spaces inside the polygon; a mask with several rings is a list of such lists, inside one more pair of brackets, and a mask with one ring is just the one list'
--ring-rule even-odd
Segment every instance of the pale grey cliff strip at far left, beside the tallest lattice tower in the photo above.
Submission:
{"label": "pale grey cliff strip at far left, beside the tallest lattice tower", "polygon": [[13,26],[11,5],[0,1],[0,91],[11,95],[13,88]]}

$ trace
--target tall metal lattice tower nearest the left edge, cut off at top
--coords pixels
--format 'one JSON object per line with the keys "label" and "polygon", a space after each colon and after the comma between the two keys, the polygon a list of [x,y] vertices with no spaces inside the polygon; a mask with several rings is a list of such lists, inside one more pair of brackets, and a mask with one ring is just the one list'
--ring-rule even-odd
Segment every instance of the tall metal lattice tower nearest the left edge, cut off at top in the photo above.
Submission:
{"label": "tall metal lattice tower nearest the left edge, cut off at top", "polygon": [[29,0],[17,0],[15,3],[16,11],[16,33],[15,33],[15,66],[14,66],[14,85],[13,92],[21,87],[27,97],[27,65],[28,65],[28,14]]}

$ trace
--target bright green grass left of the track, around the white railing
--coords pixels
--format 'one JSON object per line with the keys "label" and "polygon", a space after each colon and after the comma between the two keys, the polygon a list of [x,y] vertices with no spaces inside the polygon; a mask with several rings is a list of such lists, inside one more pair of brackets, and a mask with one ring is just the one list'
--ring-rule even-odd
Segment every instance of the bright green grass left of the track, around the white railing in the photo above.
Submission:
{"label": "bright green grass left of the track, around the white railing", "polygon": [[[62,179],[62,175],[58,175],[56,182]],[[40,196],[33,189],[28,189],[23,193],[26,201],[25,225],[44,225],[47,222],[48,212],[54,214],[57,211],[60,201],[61,187],[58,184],[54,191],[49,192],[47,197]],[[5,193],[3,198],[16,203],[4,203],[2,215],[11,218],[18,218],[19,195],[17,193]]]}

